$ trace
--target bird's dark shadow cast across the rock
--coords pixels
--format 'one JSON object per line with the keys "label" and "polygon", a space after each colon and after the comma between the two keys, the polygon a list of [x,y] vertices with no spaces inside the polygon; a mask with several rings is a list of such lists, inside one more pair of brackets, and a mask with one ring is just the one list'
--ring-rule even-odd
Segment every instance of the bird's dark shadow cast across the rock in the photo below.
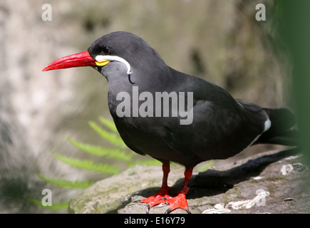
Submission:
{"label": "bird's dark shadow cast across the rock", "polygon": [[[227,192],[227,190],[239,182],[249,180],[251,177],[257,177],[267,165],[277,162],[284,157],[296,155],[299,152],[301,150],[296,147],[290,150],[282,150],[272,155],[264,155],[253,160],[248,160],[242,165],[232,167],[229,170],[206,170],[205,172],[200,172],[197,175],[193,175],[190,180],[190,192],[187,194],[187,199],[210,197]],[[172,186],[171,196],[177,195],[177,192],[183,185],[183,181],[184,178],[180,178],[175,182]],[[150,187],[135,192],[134,195],[150,197],[150,195],[155,194],[158,190],[158,187]]]}

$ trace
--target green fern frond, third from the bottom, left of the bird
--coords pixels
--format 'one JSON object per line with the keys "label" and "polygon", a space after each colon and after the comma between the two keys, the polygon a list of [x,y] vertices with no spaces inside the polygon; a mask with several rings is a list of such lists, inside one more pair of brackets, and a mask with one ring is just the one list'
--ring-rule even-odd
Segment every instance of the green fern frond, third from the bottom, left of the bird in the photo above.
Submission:
{"label": "green fern frond, third from the bottom, left of the bird", "polygon": [[71,157],[65,157],[63,155],[58,155],[55,152],[51,152],[51,155],[62,162],[67,163],[68,165],[73,165],[74,167],[82,168],[84,170],[90,170],[95,172],[103,172],[110,175],[115,175],[119,172],[119,168],[107,165],[107,164],[95,164],[91,160],[81,160]]}

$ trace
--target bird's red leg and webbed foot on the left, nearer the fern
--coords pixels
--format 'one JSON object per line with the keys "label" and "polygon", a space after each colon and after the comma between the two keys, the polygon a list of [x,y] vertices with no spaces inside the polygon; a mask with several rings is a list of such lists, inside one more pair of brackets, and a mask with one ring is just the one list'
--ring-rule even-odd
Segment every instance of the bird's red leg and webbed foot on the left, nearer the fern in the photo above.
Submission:
{"label": "bird's red leg and webbed foot on the left, nearer the fern", "polygon": [[165,199],[170,198],[169,195],[169,190],[172,190],[171,187],[168,186],[167,180],[168,180],[168,175],[170,172],[170,164],[169,162],[164,162],[162,163],[162,172],[163,172],[163,177],[162,177],[162,187],[159,192],[155,193],[153,196],[141,199],[140,202],[147,203],[149,204],[149,209],[151,207],[156,206],[157,204],[162,204],[165,203]]}

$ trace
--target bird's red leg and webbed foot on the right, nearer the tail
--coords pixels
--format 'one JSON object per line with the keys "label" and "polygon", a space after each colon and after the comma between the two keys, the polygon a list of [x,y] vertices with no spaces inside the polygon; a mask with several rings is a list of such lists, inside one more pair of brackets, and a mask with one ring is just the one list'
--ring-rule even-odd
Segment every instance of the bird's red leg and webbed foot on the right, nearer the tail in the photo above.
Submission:
{"label": "bird's red leg and webbed foot on the right, nearer the tail", "polygon": [[190,190],[190,188],[188,188],[187,185],[188,182],[190,181],[190,177],[192,177],[192,168],[186,168],[184,175],[185,175],[184,183],[182,189],[179,192],[179,195],[165,200],[167,204],[170,205],[170,208],[167,209],[166,213],[170,213],[177,208],[185,209],[187,213],[190,213],[188,209],[186,194]]}

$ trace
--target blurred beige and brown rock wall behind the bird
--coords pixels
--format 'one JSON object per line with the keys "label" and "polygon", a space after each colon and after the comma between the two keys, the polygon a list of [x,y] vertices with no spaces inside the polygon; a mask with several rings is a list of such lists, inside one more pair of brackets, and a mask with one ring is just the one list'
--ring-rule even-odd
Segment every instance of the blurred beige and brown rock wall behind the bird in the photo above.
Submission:
{"label": "blurred beige and brown rock wall behind the bird", "polygon": [[[43,21],[43,4],[52,21]],[[255,6],[267,7],[256,21]],[[31,204],[48,187],[56,202],[75,192],[58,190],[36,172],[68,180],[103,175],[56,160],[50,151],[87,157],[66,136],[104,145],[89,128],[110,118],[108,83],[92,68],[43,73],[51,61],[85,51],[96,38],[129,31],[147,41],[167,65],[226,88],[235,98],[264,107],[291,103],[290,68],[277,31],[271,33],[273,0],[16,1],[0,2],[0,212],[48,212]],[[269,147],[254,147],[242,155]],[[234,158],[236,159],[236,158]]]}

